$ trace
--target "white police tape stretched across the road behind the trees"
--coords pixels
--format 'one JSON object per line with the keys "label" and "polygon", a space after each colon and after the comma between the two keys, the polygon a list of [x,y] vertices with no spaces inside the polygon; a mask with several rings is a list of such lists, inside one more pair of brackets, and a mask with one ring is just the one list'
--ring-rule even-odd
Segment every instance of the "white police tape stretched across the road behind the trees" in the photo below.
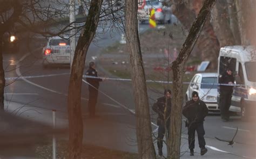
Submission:
{"label": "white police tape stretched across the road behind the trees", "polygon": [[[38,75],[38,76],[18,76],[18,77],[6,77],[5,80],[23,80],[23,78],[40,78],[40,77],[51,77],[51,76],[61,76],[61,75],[70,75],[70,73],[64,74],[51,74],[51,75]],[[83,75],[84,78],[97,78],[97,79],[107,79],[107,80],[115,80],[115,81],[132,81],[129,78],[104,78],[104,77],[95,77],[95,76],[87,76]],[[154,83],[164,83],[164,84],[172,84],[172,81],[155,81],[155,80],[146,80],[146,82],[154,82]],[[228,85],[228,86],[245,86],[243,84],[219,84],[219,83],[190,83],[183,82],[183,84],[203,84],[203,85]]]}

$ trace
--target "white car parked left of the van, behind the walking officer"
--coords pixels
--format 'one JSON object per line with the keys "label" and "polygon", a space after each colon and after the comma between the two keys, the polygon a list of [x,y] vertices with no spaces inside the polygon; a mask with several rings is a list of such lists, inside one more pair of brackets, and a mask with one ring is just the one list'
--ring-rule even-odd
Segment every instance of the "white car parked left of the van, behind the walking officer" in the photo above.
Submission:
{"label": "white car parked left of the van, behind the walking officer", "polygon": [[211,112],[219,112],[217,104],[218,74],[200,73],[193,76],[186,91],[186,101],[192,99],[192,92],[198,92],[200,100],[203,100]]}

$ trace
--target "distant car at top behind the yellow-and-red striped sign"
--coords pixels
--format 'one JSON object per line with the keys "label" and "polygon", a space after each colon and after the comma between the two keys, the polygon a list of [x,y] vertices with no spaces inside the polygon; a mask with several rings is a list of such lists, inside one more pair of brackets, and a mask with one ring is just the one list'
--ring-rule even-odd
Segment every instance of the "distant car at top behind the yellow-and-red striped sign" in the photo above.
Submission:
{"label": "distant car at top behind the yellow-and-red striped sign", "polygon": [[163,2],[151,0],[146,1],[146,5],[142,9],[138,9],[138,18],[141,23],[149,21],[150,12],[154,9],[155,20],[159,23],[171,23],[171,9],[163,5]]}

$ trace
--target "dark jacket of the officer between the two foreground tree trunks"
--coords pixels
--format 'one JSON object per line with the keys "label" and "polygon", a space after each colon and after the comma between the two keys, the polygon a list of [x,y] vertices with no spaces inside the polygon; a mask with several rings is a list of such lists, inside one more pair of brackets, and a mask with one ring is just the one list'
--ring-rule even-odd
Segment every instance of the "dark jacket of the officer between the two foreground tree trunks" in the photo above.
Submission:
{"label": "dark jacket of the officer between the two foreground tree trunks", "polygon": [[[158,118],[160,118],[162,120],[164,120],[165,102],[166,102],[166,98],[161,97],[161,98],[158,98],[157,101],[152,106],[153,111],[158,113]],[[170,119],[171,107],[172,107],[171,98],[167,98],[166,106],[167,106],[166,107],[166,117],[169,117],[169,119]]]}

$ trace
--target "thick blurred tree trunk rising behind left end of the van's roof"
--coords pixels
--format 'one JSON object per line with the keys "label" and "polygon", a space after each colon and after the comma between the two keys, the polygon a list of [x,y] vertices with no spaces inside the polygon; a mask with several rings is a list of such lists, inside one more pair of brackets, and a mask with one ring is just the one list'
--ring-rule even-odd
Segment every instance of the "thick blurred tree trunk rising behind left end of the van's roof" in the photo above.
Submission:
{"label": "thick blurred tree trunk rising behind left end of the van's roof", "polygon": [[220,47],[233,46],[235,40],[230,28],[228,5],[224,0],[218,0],[212,10],[212,26],[220,43]]}

